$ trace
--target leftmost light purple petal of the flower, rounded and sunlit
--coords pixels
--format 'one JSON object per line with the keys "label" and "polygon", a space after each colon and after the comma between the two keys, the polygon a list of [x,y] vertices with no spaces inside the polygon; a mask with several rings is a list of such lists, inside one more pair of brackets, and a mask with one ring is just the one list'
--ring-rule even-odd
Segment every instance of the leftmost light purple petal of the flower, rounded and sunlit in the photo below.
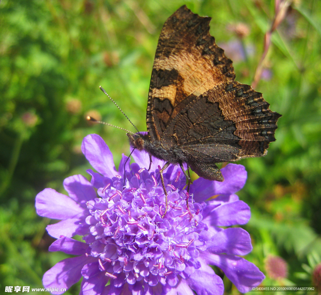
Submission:
{"label": "leftmost light purple petal of the flower, rounded and sunlit", "polygon": [[45,188],[36,196],[36,211],[40,216],[52,219],[73,218],[83,212],[83,208],[72,198]]}

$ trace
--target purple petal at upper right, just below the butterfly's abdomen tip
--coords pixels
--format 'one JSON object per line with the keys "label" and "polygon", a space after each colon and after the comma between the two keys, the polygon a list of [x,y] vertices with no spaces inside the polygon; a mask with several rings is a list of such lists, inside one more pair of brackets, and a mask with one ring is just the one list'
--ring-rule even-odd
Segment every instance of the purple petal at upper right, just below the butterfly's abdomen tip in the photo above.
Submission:
{"label": "purple petal at upper right, just below the butterfly's abdomen tip", "polygon": [[244,187],[247,172],[243,165],[228,164],[221,169],[224,181],[213,181],[214,195],[230,195]]}

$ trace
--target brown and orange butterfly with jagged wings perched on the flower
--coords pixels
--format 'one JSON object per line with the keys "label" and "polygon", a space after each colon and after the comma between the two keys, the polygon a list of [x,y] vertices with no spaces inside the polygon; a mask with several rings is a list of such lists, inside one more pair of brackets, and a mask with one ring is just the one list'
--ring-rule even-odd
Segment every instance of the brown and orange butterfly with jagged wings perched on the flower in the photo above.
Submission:
{"label": "brown and orange butterfly with jagged wings perched on the flower", "polygon": [[148,134],[127,133],[132,147],[166,162],[160,169],[165,213],[162,173],[169,164],[180,165],[188,188],[184,163],[200,177],[223,181],[216,163],[264,156],[281,117],[262,93],[235,81],[232,61],[209,33],[210,20],[186,5],[167,19],[149,87]]}

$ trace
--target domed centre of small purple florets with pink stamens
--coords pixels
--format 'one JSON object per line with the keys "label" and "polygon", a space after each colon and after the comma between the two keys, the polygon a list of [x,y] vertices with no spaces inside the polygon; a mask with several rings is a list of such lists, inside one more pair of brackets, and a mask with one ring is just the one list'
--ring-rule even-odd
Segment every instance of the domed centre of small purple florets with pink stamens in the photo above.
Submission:
{"label": "domed centre of small purple florets with pink stamens", "polygon": [[162,218],[165,196],[153,175],[133,173],[129,187],[122,189],[121,183],[121,179],[108,183],[98,190],[101,198],[87,204],[91,215],[86,221],[94,237],[90,254],[99,256],[100,270],[110,277],[125,274],[129,283],[144,279],[164,284],[199,268],[195,241],[204,230],[199,224],[201,205],[189,203],[187,211],[186,190],[169,184],[169,210]]}

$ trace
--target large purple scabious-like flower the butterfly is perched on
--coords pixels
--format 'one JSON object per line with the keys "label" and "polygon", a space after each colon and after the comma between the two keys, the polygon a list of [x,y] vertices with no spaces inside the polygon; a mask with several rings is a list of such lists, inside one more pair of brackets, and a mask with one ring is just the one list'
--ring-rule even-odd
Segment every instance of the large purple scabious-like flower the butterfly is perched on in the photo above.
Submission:
{"label": "large purple scabious-like flower the butterfly is perched on", "polygon": [[82,278],[83,295],[222,294],[223,282],[209,265],[221,268],[241,292],[263,281],[263,273],[239,256],[252,249],[249,234],[225,228],[250,218],[249,207],[234,194],[247,178],[243,166],[222,168],[223,182],[195,180],[189,212],[185,176],[170,165],[164,173],[169,210],[162,218],[162,161],[153,158],[148,171],[149,156],[134,151],[135,163],[124,167],[123,155],[117,171],[108,146],[96,134],[84,138],[82,152],[99,172],[87,170],[91,182],[71,176],[64,181],[69,197],[50,188],[36,197],[39,215],[61,219],[47,227],[57,238],[49,250],[76,255],[44,274],[46,288],[68,289]]}

